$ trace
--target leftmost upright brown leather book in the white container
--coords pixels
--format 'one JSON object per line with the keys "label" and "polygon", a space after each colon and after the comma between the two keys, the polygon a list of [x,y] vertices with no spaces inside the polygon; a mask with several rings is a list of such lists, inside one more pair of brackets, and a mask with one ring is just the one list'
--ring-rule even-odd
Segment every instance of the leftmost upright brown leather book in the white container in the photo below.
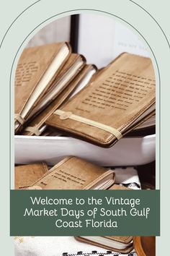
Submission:
{"label": "leftmost upright brown leather book in the white container", "polygon": [[24,49],[19,58],[14,83],[15,132],[53,84],[70,54],[71,47],[64,42]]}

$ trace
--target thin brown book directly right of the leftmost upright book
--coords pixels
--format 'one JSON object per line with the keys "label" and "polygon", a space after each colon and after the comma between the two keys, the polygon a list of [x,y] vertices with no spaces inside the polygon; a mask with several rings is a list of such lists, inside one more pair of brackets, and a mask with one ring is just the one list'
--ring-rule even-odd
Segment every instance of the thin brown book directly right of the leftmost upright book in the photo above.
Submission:
{"label": "thin brown book directly right of the leftmost upright book", "polygon": [[57,98],[58,95],[60,95],[60,93],[68,86],[73,78],[79,74],[85,63],[86,59],[84,59],[84,56],[79,54],[71,54],[63,69],[58,74],[58,77],[56,77],[55,81],[50,86],[50,89],[32,109],[26,121],[28,121],[32,116],[39,114],[40,111],[52,103],[55,98]]}

